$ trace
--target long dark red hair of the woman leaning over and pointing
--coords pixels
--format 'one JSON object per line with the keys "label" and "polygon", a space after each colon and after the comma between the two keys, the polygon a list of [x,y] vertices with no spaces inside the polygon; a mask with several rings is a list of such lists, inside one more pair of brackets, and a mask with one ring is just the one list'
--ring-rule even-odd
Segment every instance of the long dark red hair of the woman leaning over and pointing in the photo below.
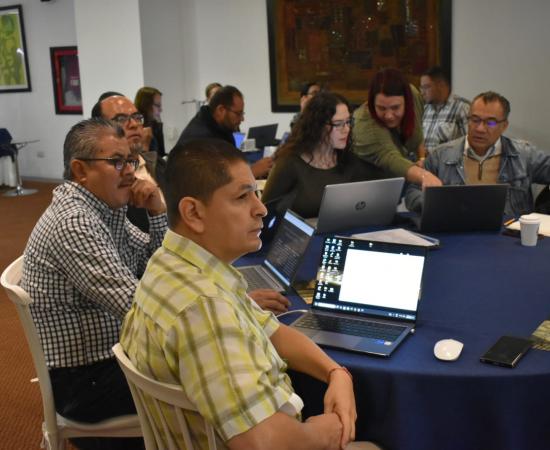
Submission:
{"label": "long dark red hair of the woman leaning over and pointing", "polygon": [[386,127],[382,119],[376,114],[374,100],[378,94],[388,97],[403,97],[405,99],[405,115],[401,121],[401,136],[403,140],[409,139],[414,133],[416,121],[422,117],[416,117],[414,111],[414,99],[411,86],[397,69],[384,69],[374,75],[369,87],[368,108],[371,117],[382,127]]}

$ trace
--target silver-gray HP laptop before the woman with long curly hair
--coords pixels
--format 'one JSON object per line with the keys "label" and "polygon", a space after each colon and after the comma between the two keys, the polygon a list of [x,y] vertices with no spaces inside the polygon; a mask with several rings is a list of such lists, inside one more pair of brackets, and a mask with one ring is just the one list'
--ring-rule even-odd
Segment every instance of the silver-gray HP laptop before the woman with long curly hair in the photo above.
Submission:
{"label": "silver-gray HP laptop before the woman with long curly hair", "polygon": [[388,225],[401,199],[404,178],[358,181],[325,186],[319,217],[309,219],[317,233],[367,225]]}

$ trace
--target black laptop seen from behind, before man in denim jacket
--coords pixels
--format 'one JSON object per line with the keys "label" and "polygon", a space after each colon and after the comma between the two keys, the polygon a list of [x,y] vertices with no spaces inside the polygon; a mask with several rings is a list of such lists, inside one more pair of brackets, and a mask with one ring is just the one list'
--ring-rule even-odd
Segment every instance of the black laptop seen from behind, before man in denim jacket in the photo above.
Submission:
{"label": "black laptop seen from behind, before man in denim jacket", "polygon": [[428,187],[420,231],[500,231],[507,184],[473,184]]}

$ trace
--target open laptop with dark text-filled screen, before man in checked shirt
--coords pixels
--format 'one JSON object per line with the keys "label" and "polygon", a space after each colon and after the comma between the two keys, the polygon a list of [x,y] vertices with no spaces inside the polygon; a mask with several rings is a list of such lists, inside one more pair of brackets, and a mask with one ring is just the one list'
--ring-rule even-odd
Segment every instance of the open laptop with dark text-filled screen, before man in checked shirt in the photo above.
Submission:
{"label": "open laptop with dark text-filled screen, before man in checked shirt", "polygon": [[306,252],[314,229],[292,211],[286,211],[262,264],[237,269],[248,282],[248,289],[274,289],[286,292]]}

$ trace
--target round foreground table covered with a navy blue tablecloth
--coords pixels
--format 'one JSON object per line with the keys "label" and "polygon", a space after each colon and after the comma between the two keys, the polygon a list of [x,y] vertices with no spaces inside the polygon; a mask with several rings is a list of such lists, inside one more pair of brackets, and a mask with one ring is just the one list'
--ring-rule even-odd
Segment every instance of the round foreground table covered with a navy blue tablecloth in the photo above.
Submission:
{"label": "round foreground table covered with a navy blue tablecloth", "polygon": [[[514,368],[480,361],[501,336],[529,338],[550,316],[550,238],[525,247],[501,232],[430,236],[440,246],[428,251],[415,332],[387,358],[325,347],[353,375],[357,439],[385,450],[550,448],[550,352],[532,348]],[[316,277],[324,237],[310,241],[297,280]],[[368,289],[369,273],[362,283]],[[292,309],[309,307],[296,292],[288,297]],[[434,356],[442,339],[464,344],[456,361]],[[304,418],[322,413],[326,385],[290,374]]]}

